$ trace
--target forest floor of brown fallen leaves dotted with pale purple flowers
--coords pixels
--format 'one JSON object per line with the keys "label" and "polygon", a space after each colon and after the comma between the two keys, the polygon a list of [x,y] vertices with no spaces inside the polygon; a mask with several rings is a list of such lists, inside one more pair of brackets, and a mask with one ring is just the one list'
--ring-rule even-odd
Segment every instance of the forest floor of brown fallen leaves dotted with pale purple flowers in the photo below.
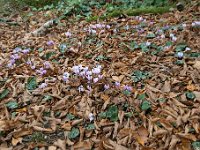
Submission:
{"label": "forest floor of brown fallen leaves dotted with pale purple flowers", "polygon": [[0,149],[199,149],[199,12],[0,23]]}

